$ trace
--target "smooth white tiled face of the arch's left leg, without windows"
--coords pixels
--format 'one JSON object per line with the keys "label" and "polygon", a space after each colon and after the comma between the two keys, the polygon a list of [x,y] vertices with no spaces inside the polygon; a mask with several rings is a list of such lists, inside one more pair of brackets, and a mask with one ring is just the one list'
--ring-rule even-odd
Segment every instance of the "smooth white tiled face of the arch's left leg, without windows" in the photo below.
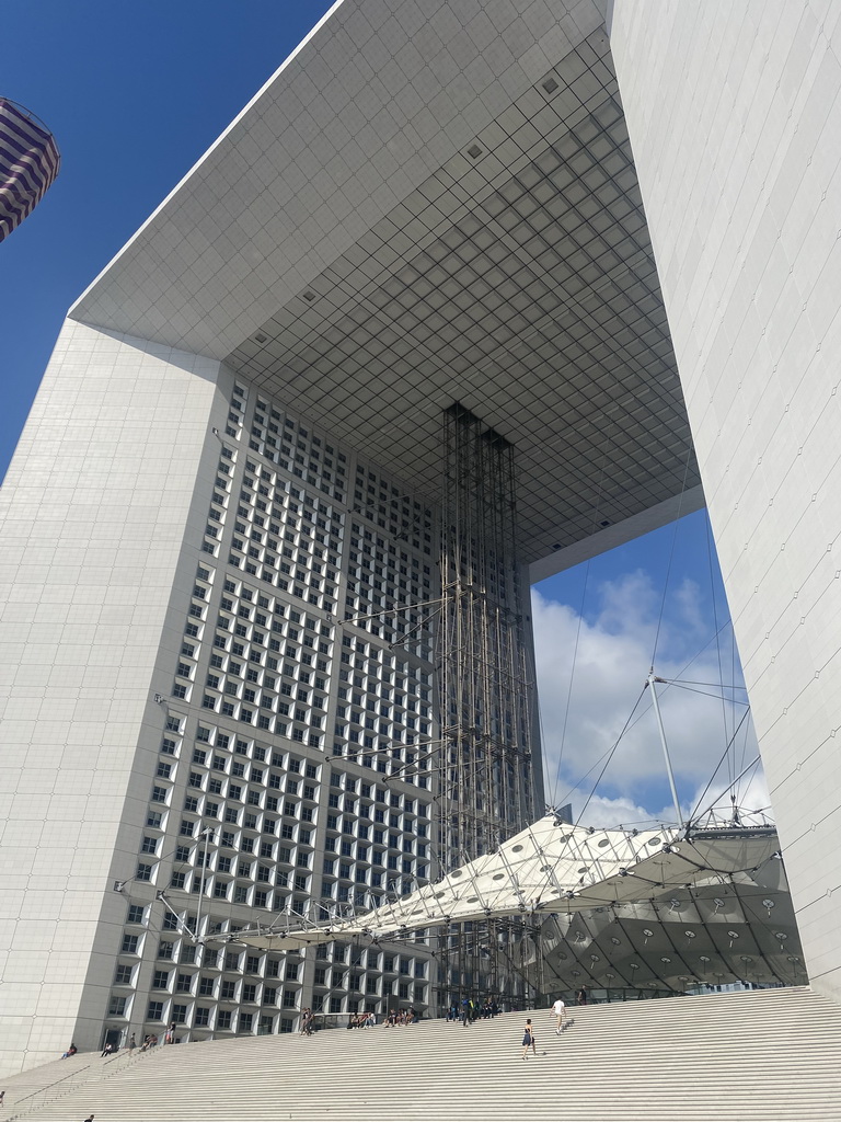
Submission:
{"label": "smooth white tiled face of the arch's left leg, without windows", "polygon": [[121,929],[112,879],[137,859],[132,799],[155,758],[139,745],[159,724],[173,590],[192,577],[182,544],[219,376],[218,362],[68,322],[2,491],[6,1070],[66,1048],[83,994],[104,1014],[110,969],[102,993],[91,985]]}

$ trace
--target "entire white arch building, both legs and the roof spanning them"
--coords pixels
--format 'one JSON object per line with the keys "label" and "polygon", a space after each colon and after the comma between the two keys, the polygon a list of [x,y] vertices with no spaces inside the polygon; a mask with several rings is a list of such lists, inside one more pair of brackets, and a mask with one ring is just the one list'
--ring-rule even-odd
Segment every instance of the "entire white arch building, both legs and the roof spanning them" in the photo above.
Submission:
{"label": "entire white arch building, both legs and the roof spanning them", "polygon": [[423,936],[193,932],[435,875],[455,402],[514,445],[526,578],[706,502],[838,995],[837,25],[344,0],[80,297],[0,498],[4,1070],[435,1006]]}

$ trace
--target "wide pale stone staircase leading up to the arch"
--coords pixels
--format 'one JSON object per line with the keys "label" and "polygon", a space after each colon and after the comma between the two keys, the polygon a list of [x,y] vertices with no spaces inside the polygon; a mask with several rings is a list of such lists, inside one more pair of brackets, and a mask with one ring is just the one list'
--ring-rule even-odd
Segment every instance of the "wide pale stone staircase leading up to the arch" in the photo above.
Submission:
{"label": "wide pale stone staircase leading up to the arch", "polygon": [[[527,1015],[538,1056],[524,1063]],[[8,1079],[3,1118],[82,1122],[93,1112],[96,1122],[841,1120],[841,1006],[807,988],[594,1005],[573,1010],[572,1021],[560,1037],[547,1010],[538,1010],[469,1028],[426,1021],[326,1030],[308,1039],[158,1047],[117,1060],[82,1056]],[[71,1063],[78,1082],[50,1084]],[[25,1097],[37,1073],[46,1102]],[[61,1097],[50,1097],[53,1091]]]}

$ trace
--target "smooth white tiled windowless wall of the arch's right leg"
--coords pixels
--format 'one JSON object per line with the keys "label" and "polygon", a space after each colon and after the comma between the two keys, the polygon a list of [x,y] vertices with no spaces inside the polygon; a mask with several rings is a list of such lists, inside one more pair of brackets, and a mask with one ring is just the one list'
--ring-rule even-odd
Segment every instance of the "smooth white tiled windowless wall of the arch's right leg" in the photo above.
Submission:
{"label": "smooth white tiled windowless wall of the arch's right leg", "polygon": [[806,965],[841,1000],[841,8],[609,24]]}

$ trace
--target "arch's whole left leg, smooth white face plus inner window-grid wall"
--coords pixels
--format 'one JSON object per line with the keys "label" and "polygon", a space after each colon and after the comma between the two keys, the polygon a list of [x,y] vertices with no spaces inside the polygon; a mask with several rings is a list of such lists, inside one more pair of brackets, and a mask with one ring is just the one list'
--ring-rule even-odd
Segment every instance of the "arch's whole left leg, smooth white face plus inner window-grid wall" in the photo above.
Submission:
{"label": "arch's whole left leg, smooth white face plus inner window-grid wall", "polygon": [[433,875],[436,512],[219,362],[78,323],[2,504],[0,1070],[436,1002],[423,934],[230,940]]}

